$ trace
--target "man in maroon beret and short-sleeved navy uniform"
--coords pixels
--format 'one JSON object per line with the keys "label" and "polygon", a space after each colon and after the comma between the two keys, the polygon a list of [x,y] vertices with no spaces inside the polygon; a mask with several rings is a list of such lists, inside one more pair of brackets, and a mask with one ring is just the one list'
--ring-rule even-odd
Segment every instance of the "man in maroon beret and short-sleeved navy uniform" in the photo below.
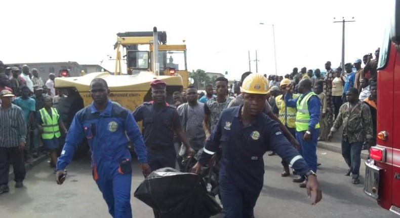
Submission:
{"label": "man in maroon beret and short-sleeved navy uniform", "polygon": [[137,122],[143,121],[143,139],[151,170],[175,168],[174,133],[189,155],[194,155],[195,152],[185,136],[176,108],[165,101],[167,84],[162,80],[154,80],[150,86],[153,100],[138,106],[133,116]]}

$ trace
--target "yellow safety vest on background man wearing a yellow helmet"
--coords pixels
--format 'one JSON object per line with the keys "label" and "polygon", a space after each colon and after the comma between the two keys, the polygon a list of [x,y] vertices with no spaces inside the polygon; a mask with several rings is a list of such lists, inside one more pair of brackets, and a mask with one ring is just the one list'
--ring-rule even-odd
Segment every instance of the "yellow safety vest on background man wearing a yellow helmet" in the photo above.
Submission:
{"label": "yellow safety vest on background man wearing a yellow helmet", "polygon": [[[299,95],[293,94],[293,99],[296,99]],[[283,95],[279,95],[275,98],[276,107],[279,110],[279,120],[289,128],[295,128],[296,124],[296,107],[287,107]]]}

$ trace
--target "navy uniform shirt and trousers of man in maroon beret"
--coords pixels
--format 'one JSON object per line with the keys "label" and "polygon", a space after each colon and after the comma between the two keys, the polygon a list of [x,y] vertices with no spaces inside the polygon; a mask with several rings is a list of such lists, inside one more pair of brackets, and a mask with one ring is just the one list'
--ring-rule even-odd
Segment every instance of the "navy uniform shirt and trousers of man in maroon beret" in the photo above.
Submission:
{"label": "navy uniform shirt and trousers of man in maroon beret", "polygon": [[136,108],[133,116],[138,122],[143,120],[143,139],[151,170],[175,169],[174,130],[181,128],[176,108],[166,103],[157,111],[152,101],[144,102]]}

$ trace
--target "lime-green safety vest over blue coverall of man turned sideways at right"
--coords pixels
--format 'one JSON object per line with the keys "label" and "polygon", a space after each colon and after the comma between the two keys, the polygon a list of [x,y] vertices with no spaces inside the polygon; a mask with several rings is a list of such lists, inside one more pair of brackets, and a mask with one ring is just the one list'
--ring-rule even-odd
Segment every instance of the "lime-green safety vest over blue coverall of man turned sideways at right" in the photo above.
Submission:
{"label": "lime-green safety vest over blue coverall of man turned sideways at right", "polygon": [[[308,124],[310,123],[310,112],[308,111],[308,99],[311,96],[317,96],[314,92],[309,92],[304,96],[300,102],[300,98],[297,100],[297,114],[296,114],[296,131],[306,131]],[[318,97],[318,96],[317,96]],[[319,123],[315,125],[315,129],[319,128]]]}

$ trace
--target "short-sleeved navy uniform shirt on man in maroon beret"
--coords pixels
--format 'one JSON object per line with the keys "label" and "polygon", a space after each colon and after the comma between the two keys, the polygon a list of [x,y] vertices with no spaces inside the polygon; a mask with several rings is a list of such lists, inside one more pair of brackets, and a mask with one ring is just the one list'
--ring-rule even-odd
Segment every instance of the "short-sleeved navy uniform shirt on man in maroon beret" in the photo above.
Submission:
{"label": "short-sleeved navy uniform shirt on man in maroon beret", "polygon": [[174,106],[166,103],[158,111],[153,102],[144,102],[133,112],[136,121],[143,121],[143,139],[148,148],[174,148],[174,130],[181,128]]}

